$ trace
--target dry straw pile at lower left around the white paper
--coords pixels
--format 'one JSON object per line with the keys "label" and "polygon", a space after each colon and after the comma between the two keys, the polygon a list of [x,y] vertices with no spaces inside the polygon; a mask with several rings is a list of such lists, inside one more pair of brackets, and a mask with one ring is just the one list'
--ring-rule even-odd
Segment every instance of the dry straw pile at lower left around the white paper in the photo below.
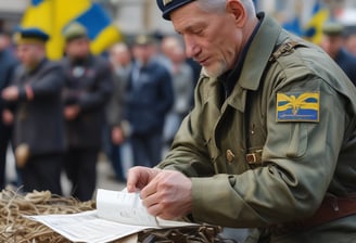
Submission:
{"label": "dry straw pile at lower left around the white paper", "polygon": [[13,190],[0,192],[0,242],[7,243],[67,243],[68,240],[40,222],[23,215],[74,214],[94,208],[91,201],[79,202],[61,197],[49,191],[34,191],[25,195]]}

